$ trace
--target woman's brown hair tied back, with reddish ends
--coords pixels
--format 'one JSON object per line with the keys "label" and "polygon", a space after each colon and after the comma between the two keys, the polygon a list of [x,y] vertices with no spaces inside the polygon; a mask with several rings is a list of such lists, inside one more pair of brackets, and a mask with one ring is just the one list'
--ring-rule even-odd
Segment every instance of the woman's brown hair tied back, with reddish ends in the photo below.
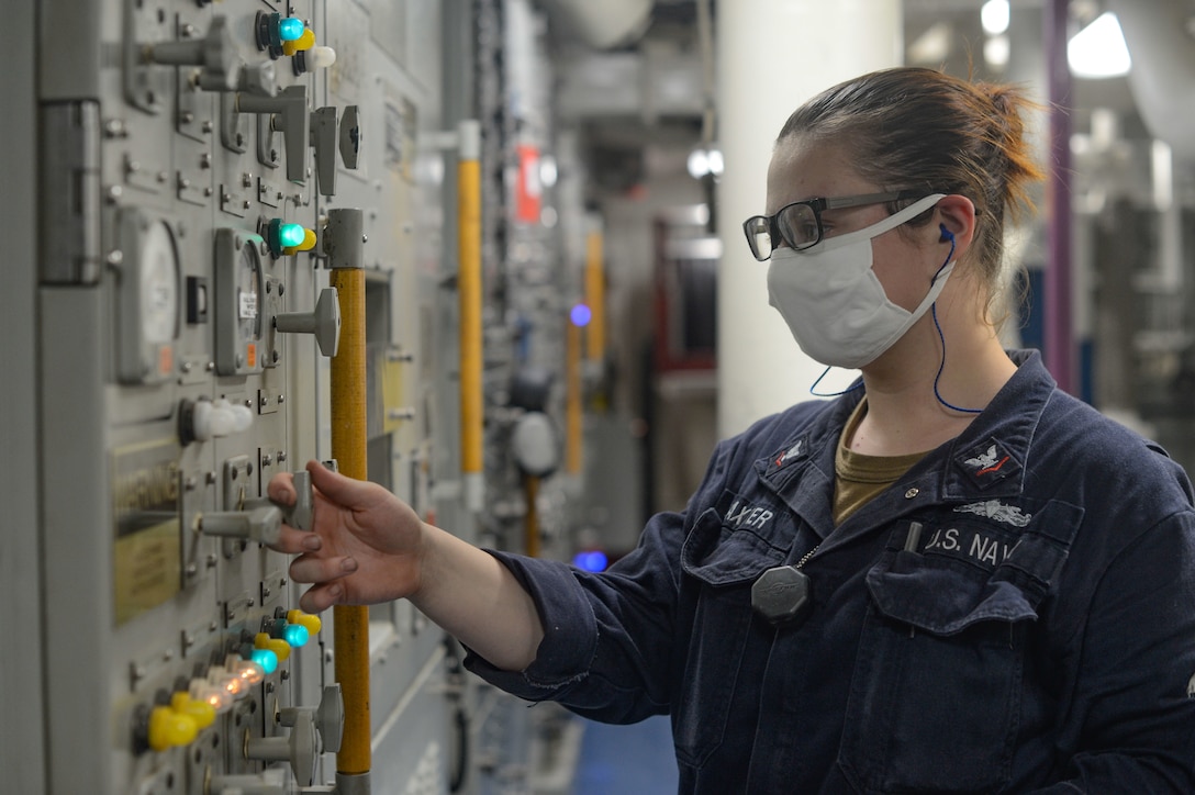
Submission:
{"label": "woman's brown hair tied back, with reddish ends", "polygon": [[807,102],[789,117],[777,145],[792,135],[833,141],[883,190],[970,198],[978,212],[974,262],[994,293],[1005,209],[1013,215],[1031,209],[1028,185],[1042,178],[1024,140],[1022,111],[1032,108],[1013,86],[919,67],[883,69]]}

